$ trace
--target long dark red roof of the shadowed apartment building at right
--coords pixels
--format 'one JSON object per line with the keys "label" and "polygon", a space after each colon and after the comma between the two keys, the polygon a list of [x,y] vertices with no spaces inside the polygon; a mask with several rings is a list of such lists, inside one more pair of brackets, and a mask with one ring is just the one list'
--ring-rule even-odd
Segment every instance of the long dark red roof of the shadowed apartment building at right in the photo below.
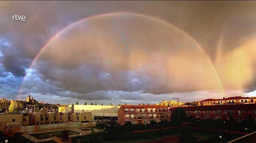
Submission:
{"label": "long dark red roof of the shadowed apartment building at right", "polygon": [[[169,111],[173,111],[178,107],[172,107]],[[191,106],[180,107],[185,111],[204,111],[204,110],[256,110],[256,104],[232,104],[232,105],[207,105],[207,106]]]}

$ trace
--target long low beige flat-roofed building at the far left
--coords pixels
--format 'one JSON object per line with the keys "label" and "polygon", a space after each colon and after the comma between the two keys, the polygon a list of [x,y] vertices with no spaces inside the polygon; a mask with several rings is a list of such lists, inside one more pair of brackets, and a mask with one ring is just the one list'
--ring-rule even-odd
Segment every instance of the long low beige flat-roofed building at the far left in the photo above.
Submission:
{"label": "long low beige flat-roofed building at the far left", "polygon": [[0,131],[4,131],[7,124],[20,123],[26,125],[42,125],[69,122],[92,121],[92,113],[23,113],[23,114],[0,114]]}

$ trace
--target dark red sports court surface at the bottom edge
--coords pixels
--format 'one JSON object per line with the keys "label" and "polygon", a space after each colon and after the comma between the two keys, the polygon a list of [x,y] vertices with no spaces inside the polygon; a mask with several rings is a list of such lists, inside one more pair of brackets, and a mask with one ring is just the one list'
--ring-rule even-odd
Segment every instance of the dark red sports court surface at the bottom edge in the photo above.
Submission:
{"label": "dark red sports court surface at the bottom edge", "polygon": [[[154,137],[152,137],[152,138],[154,138]],[[156,140],[150,140],[150,141],[139,142],[139,143],[179,143],[179,138],[180,138],[179,135],[175,135],[172,137],[161,138],[161,139],[155,138]],[[204,139],[204,138],[197,137],[197,140],[201,140],[201,139]]]}

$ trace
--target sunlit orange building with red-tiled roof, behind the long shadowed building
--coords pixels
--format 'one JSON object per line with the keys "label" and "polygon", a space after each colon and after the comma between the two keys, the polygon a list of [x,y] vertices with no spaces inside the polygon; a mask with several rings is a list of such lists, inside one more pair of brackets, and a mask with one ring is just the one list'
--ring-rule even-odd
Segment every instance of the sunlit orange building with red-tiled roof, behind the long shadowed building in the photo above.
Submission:
{"label": "sunlit orange building with red-tiled roof, behind the long shadowed building", "polygon": [[244,103],[254,103],[256,104],[256,97],[228,97],[223,99],[205,99],[198,101],[199,106],[205,106],[205,105],[225,105],[225,104],[244,104]]}

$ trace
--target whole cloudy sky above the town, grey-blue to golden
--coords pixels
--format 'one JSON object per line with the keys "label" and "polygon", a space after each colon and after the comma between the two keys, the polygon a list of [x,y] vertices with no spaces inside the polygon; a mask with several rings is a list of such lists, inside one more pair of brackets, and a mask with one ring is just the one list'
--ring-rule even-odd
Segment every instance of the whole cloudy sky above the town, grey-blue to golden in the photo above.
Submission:
{"label": "whole cloudy sky above the town, grey-blue to golden", "polygon": [[255,7],[0,1],[0,97],[107,105],[256,96]]}

